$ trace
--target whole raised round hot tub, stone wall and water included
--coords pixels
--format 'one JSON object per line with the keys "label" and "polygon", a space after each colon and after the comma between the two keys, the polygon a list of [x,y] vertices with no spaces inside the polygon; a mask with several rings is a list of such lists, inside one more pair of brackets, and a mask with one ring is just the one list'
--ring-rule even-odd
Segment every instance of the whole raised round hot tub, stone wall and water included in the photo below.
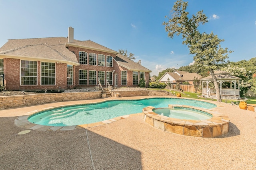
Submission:
{"label": "whole raised round hot tub, stone wall and water included", "polygon": [[[229,118],[200,107],[169,105],[168,108],[145,107],[143,118],[148,124],[172,133],[194,137],[218,137],[229,130]],[[190,113],[195,115],[190,115]],[[203,115],[204,118],[201,117]]]}

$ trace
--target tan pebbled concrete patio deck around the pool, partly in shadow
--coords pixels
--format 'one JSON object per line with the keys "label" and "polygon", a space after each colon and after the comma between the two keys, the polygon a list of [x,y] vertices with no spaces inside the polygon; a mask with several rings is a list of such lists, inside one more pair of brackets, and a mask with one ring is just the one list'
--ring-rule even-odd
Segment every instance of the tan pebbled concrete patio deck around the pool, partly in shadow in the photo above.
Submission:
{"label": "tan pebbled concrete patio deck around the pool, partly in shadow", "polygon": [[[120,99],[147,97],[152,96]],[[212,102],[230,118],[229,133],[216,138],[168,133],[144,122],[140,114],[87,129],[23,135],[18,133],[28,129],[14,125],[18,116],[37,109],[109,99],[0,110],[0,169],[256,169],[256,112],[225,103]]]}

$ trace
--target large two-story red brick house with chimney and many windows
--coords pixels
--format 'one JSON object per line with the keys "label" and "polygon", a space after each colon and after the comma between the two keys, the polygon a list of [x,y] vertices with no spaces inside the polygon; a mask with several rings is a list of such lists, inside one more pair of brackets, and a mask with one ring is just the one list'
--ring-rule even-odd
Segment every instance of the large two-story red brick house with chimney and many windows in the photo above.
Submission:
{"label": "large two-story red brick house with chimney and many windows", "polygon": [[[136,87],[149,70],[93,41],[50,37],[9,39],[0,48],[0,74],[6,90],[66,90],[107,85]],[[148,81],[147,86],[148,86]]]}

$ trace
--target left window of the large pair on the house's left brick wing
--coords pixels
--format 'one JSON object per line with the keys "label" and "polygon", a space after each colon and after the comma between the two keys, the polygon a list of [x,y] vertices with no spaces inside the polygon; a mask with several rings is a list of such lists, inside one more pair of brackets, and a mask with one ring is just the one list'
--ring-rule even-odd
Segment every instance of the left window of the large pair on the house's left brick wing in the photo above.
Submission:
{"label": "left window of the large pair on the house's left brick wing", "polygon": [[20,61],[20,84],[37,85],[37,61]]}

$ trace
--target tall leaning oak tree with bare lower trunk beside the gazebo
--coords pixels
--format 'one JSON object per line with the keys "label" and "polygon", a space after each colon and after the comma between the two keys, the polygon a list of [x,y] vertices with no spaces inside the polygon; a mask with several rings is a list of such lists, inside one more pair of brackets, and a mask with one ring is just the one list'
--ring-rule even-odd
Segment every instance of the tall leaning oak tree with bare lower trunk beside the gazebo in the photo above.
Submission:
{"label": "tall leaning oak tree with bare lower trunk beside the gazebo", "polygon": [[213,33],[200,33],[198,26],[208,22],[207,16],[201,10],[189,18],[186,11],[187,6],[188,2],[176,1],[172,7],[172,17],[166,17],[168,21],[164,21],[163,25],[165,25],[165,30],[168,32],[168,37],[173,38],[174,35],[182,35],[182,39],[184,39],[183,44],[188,45],[190,54],[195,55],[194,64],[208,68],[213,78],[217,101],[222,102],[214,70],[226,63],[227,53],[231,53],[231,51],[220,46],[224,39],[219,39]]}

